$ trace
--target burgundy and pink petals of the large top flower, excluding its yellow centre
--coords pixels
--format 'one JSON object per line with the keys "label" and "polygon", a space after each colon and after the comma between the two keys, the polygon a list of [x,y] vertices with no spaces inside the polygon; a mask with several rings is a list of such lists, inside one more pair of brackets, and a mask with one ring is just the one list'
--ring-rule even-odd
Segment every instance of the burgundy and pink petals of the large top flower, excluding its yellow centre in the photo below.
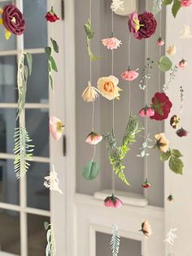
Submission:
{"label": "burgundy and pink petals of the large top flower, excluding its yellow centre", "polygon": [[[129,31],[133,32],[132,29],[132,20],[130,19],[128,21],[129,25]],[[151,12],[143,12],[142,14],[138,15],[138,20],[140,23],[140,28],[137,32],[133,32],[134,38],[137,38],[139,40],[143,38],[150,38],[152,34],[155,33],[156,27],[157,27],[157,21],[155,20],[154,15]]]}

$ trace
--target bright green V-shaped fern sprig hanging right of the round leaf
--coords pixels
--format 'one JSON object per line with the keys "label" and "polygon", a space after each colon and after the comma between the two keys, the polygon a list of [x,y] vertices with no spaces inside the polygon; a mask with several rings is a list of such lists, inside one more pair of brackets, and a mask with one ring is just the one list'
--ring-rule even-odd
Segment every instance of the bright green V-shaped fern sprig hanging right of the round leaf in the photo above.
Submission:
{"label": "bright green V-shaped fern sprig hanging right of the round leaf", "polygon": [[131,114],[128,124],[126,126],[124,137],[120,147],[117,146],[116,136],[113,131],[107,132],[103,135],[103,139],[107,142],[107,150],[109,155],[109,161],[115,174],[119,175],[119,178],[129,186],[129,182],[124,175],[124,157],[129,152],[129,145],[134,143],[137,133],[142,130],[142,126],[136,116]]}

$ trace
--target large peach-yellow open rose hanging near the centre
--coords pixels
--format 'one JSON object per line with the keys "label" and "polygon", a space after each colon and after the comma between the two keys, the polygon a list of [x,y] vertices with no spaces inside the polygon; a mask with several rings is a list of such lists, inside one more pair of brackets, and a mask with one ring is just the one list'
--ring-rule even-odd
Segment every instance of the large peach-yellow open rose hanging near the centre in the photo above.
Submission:
{"label": "large peach-yellow open rose hanging near the centre", "polygon": [[121,89],[117,86],[118,83],[119,79],[117,77],[100,77],[98,78],[98,90],[106,99],[119,99]]}

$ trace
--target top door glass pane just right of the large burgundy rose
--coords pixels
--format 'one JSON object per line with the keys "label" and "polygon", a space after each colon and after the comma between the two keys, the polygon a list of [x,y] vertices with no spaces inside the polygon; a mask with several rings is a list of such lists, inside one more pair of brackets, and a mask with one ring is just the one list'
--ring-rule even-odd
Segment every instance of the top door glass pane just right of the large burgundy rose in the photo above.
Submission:
{"label": "top door glass pane just right of the large burgundy rose", "polygon": [[24,0],[24,48],[44,48],[47,45],[46,0]]}

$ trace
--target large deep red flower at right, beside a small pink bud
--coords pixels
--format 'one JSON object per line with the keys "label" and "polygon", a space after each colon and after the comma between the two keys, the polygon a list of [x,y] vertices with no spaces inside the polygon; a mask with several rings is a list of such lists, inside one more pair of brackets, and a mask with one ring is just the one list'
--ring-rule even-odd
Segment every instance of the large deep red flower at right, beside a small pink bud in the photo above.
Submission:
{"label": "large deep red flower at right, beside a small pink bud", "polygon": [[164,92],[156,92],[152,98],[151,108],[155,110],[155,115],[150,118],[161,121],[168,118],[172,103]]}

